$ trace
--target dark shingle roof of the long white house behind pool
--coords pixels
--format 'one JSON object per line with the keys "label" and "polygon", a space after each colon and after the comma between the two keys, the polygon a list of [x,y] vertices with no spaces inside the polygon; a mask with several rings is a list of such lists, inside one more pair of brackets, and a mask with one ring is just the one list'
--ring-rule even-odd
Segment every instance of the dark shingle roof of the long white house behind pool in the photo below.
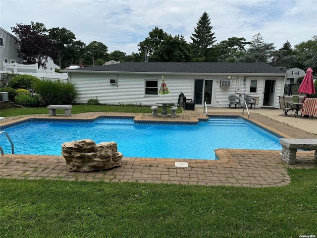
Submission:
{"label": "dark shingle roof of the long white house behind pool", "polygon": [[267,63],[225,62],[123,62],[67,71],[166,72],[166,73],[284,73]]}

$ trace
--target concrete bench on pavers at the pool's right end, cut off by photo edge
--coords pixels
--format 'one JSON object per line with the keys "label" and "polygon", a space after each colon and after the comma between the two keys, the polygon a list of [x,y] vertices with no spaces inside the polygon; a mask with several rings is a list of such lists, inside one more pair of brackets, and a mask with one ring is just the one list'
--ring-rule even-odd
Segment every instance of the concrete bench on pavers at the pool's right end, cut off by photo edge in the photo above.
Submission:
{"label": "concrete bench on pavers at the pool's right end, cut off by photo edge", "polygon": [[279,139],[282,145],[282,160],[289,165],[295,165],[297,149],[315,150],[314,160],[317,160],[317,139]]}

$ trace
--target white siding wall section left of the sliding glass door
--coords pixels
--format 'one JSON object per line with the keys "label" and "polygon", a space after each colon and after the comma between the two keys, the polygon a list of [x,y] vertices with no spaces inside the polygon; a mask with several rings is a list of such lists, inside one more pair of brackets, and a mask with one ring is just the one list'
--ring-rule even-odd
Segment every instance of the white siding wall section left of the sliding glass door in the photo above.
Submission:
{"label": "white siding wall section left of the sliding glass door", "polygon": [[[110,84],[109,79],[117,77],[117,84]],[[145,95],[145,81],[158,80],[158,90],[161,83],[161,75],[142,74],[114,74],[106,73],[71,73],[69,81],[75,83],[79,97],[76,102],[87,103],[90,98],[98,97],[101,104],[137,104],[156,105],[156,102],[165,100],[178,102],[181,92],[186,97],[191,97],[192,79],[191,77],[173,78],[164,76],[166,86],[170,93],[163,95]],[[189,96],[188,96],[189,95]]]}

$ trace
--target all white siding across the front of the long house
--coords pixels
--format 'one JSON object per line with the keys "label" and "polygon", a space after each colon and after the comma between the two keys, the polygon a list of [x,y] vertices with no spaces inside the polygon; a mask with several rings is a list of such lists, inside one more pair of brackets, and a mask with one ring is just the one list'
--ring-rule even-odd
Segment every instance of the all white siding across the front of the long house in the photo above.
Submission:
{"label": "all white siding across the front of the long house", "polygon": [[[163,95],[146,95],[145,82],[147,80],[157,80],[158,90],[161,84],[161,74],[127,74],[127,73],[106,73],[106,72],[71,72],[69,81],[75,83],[79,97],[78,103],[87,103],[90,98],[98,97],[101,104],[119,105],[119,104],[136,104],[144,106],[157,105],[156,102],[163,98],[174,103],[178,102],[180,93],[186,98],[193,99],[195,79],[212,80],[211,107],[228,107],[229,95],[242,95],[241,105],[244,103],[244,94],[249,94],[259,98],[257,107],[262,106],[264,78],[258,76],[247,77],[244,84],[244,77],[234,77],[231,79],[230,87],[220,87],[220,80],[227,80],[227,76],[191,76],[191,75],[163,75],[166,86],[170,93]],[[117,84],[110,84],[110,78],[116,78]],[[276,79],[276,92],[274,107],[278,108],[278,96],[281,94],[283,77],[270,77]],[[251,80],[257,80],[257,93],[249,93]],[[198,106],[198,105],[197,105]],[[202,105],[201,105],[202,106]],[[149,112],[150,113],[150,112]]]}

